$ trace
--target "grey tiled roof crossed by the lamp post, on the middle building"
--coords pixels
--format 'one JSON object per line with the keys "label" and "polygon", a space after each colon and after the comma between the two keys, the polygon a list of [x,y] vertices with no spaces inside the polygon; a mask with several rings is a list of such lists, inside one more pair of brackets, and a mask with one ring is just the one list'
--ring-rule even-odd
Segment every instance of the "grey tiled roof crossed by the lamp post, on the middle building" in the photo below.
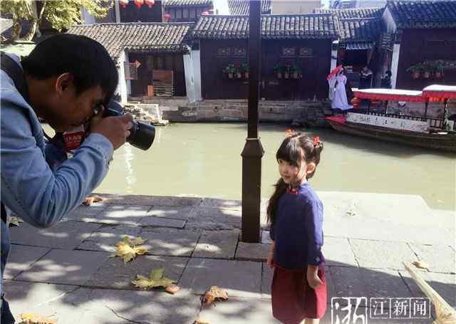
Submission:
{"label": "grey tiled roof crossed by the lamp post, on the middle building", "polygon": [[[194,38],[248,38],[249,16],[201,16]],[[330,14],[263,15],[263,38],[338,38],[338,19]]]}

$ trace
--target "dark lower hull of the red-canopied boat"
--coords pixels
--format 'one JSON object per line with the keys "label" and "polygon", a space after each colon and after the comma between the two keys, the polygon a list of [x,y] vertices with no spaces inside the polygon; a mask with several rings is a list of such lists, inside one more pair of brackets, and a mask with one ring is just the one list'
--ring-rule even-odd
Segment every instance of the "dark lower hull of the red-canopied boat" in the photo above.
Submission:
{"label": "dark lower hull of the red-canopied boat", "polygon": [[340,123],[332,120],[328,120],[328,122],[334,130],[346,134],[456,153],[456,135],[425,134],[407,130],[394,130],[386,127],[357,124],[354,122]]}

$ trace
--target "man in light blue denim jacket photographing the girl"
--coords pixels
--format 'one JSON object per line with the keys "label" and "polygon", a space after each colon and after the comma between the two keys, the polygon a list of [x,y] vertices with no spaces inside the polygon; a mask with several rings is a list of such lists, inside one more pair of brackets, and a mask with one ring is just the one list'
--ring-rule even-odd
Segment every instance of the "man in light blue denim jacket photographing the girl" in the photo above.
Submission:
{"label": "man in light blue denim jacket photographing the girl", "polygon": [[[12,211],[36,227],[56,224],[103,180],[113,150],[130,135],[133,117],[102,117],[103,105],[107,105],[118,85],[118,73],[105,48],[90,38],[52,36],[38,43],[21,62],[2,53],[1,63],[3,281],[9,254],[6,214]],[[8,72],[4,68],[7,65],[11,68]],[[19,73],[14,75],[15,70]],[[90,120],[88,137],[73,158],[55,172],[46,163],[46,144],[38,117],[56,132]],[[14,323],[3,298],[3,287],[0,289],[1,323]]]}

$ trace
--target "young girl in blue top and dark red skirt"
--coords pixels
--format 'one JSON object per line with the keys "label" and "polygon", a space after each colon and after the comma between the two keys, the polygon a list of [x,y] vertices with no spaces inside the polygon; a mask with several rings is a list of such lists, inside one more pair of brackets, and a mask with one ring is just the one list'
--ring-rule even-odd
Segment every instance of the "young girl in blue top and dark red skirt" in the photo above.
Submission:
{"label": "young girl in blue top and dark red skirt", "polygon": [[272,313],[286,324],[317,324],[326,311],[323,204],[308,182],[322,150],[318,137],[295,134],[276,153],[281,178],[267,208],[267,264],[274,268]]}

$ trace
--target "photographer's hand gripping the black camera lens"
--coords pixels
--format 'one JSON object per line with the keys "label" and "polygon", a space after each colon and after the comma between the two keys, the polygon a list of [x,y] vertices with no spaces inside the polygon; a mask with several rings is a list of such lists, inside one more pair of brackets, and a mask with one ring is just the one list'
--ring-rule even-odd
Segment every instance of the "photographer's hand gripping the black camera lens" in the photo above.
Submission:
{"label": "photographer's hand gripping the black camera lens", "polygon": [[130,136],[130,128],[133,126],[133,116],[126,114],[122,117],[102,117],[103,111],[100,110],[93,116],[90,122],[90,132],[98,132],[108,138],[113,144],[114,150],[125,144],[127,137]]}

